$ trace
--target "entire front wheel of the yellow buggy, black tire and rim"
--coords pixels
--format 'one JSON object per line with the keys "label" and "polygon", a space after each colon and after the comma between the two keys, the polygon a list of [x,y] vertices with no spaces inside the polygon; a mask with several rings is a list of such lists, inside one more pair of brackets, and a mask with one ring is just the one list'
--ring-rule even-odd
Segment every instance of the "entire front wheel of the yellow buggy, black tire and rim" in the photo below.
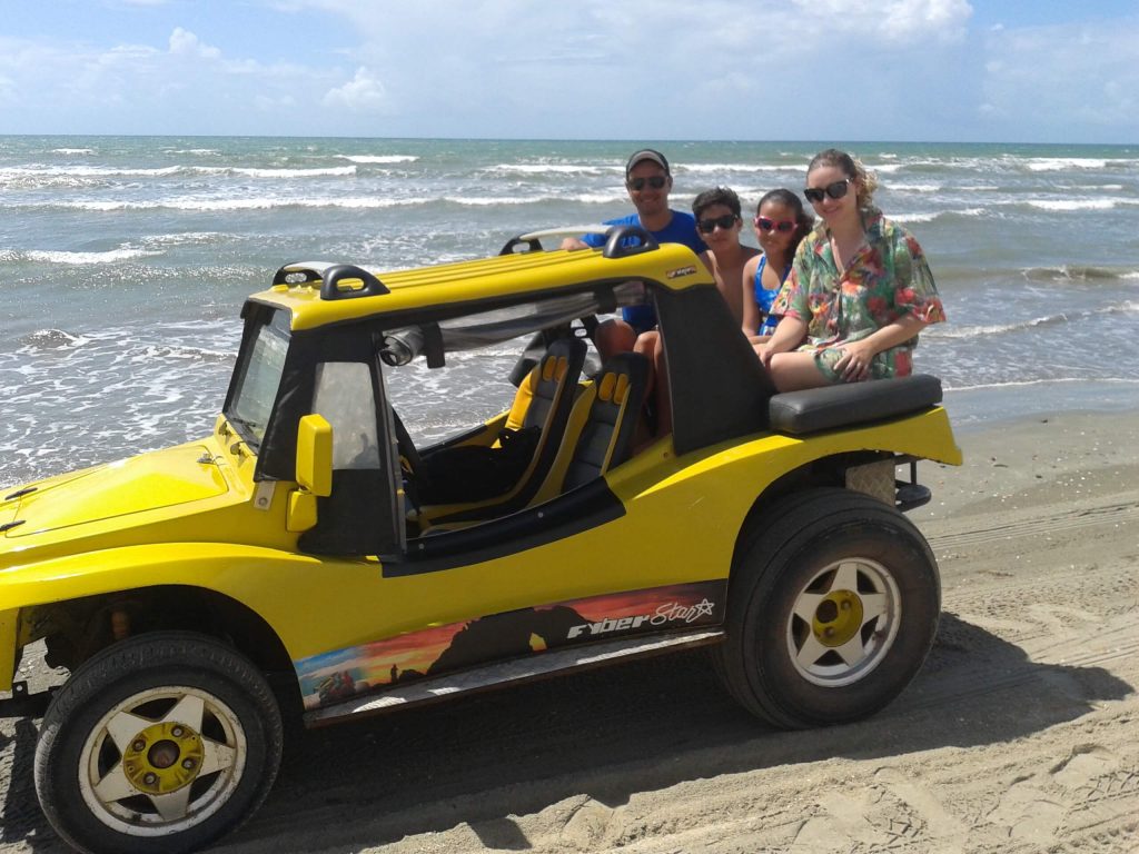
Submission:
{"label": "entire front wheel of the yellow buggy, black tire and rim", "polygon": [[264,676],[221,642],[139,635],[85,662],[55,696],[35,794],[91,854],[174,854],[244,822],[272,787],[280,711]]}

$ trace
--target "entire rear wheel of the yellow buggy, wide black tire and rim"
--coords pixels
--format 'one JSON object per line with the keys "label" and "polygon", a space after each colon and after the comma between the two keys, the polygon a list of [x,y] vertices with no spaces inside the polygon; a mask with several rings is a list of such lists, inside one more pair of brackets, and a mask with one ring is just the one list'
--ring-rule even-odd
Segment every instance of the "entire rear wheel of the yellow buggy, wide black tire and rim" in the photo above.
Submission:
{"label": "entire rear wheel of the yellow buggy, wide black tire and rim", "polygon": [[718,671],[777,726],[857,721],[917,674],[940,614],[937,565],[909,519],[861,493],[810,490],[741,549]]}

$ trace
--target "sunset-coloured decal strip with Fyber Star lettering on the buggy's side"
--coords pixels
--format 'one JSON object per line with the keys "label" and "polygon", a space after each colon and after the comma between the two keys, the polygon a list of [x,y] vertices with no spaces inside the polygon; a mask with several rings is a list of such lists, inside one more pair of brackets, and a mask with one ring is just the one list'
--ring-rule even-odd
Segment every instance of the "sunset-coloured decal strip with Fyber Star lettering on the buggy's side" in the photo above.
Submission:
{"label": "sunset-coloured decal strip with Fyber Star lettering on the buggy's side", "polygon": [[432,626],[294,662],[305,708],[473,665],[723,622],[723,581],[575,599]]}

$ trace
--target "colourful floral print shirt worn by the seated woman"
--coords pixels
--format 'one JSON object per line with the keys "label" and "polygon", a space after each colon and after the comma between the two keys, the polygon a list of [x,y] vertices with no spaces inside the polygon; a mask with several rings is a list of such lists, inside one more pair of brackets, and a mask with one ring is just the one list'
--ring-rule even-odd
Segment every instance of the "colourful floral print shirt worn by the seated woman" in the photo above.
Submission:
{"label": "colourful floral print shirt worn by the seated woman", "polygon": [[[845,271],[838,270],[825,224],[803,238],[795,253],[790,276],[771,311],[806,322],[801,350],[818,352],[859,340],[907,314],[927,323],[945,319],[933,273],[913,236],[876,208],[863,212],[862,225],[867,241]],[[874,375],[909,373],[909,351],[915,346],[917,336],[879,353]],[[837,359],[837,350],[834,355]],[[825,364],[820,368],[828,372]]]}

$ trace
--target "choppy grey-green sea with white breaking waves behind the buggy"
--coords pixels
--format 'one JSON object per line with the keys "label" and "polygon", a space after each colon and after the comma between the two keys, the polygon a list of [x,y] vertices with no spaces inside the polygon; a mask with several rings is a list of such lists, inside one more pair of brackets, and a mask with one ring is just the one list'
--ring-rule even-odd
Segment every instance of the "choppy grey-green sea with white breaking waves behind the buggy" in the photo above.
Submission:
{"label": "choppy grey-green sea with white breaking waves behind the buggy", "polygon": [[[829,143],[827,143],[829,145]],[[0,484],[204,435],[245,296],[281,264],[402,269],[630,210],[630,142],[0,137]],[[663,142],[673,206],[803,187],[812,142]],[[929,257],[923,335],[959,427],[1139,393],[1139,146],[872,142],[876,200]],[[748,236],[754,244],[754,239]],[[501,394],[509,348],[420,371],[444,433]],[[450,384],[450,385],[448,385]],[[400,399],[402,395],[402,399]]]}

